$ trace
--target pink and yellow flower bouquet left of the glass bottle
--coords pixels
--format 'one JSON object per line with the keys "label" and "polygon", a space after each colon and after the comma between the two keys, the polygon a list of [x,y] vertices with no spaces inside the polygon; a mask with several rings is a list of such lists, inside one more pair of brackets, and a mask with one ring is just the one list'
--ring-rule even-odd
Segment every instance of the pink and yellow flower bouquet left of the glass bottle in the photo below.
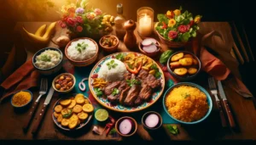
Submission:
{"label": "pink and yellow flower bouquet left of the glass bottle", "polygon": [[75,36],[99,38],[113,31],[113,16],[103,14],[99,8],[86,8],[86,0],[63,5],[59,25]]}

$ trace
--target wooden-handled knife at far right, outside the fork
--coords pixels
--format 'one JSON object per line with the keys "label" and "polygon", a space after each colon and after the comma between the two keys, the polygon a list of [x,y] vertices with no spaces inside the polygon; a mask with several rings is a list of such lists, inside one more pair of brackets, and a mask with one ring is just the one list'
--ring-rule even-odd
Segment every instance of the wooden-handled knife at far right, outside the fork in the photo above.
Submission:
{"label": "wooden-handled knife at far right, outside the fork", "polygon": [[233,118],[233,114],[231,113],[230,105],[229,105],[228,100],[226,98],[226,95],[225,95],[223,86],[221,84],[221,81],[218,81],[218,91],[219,91],[219,96],[221,98],[221,103],[223,104],[225,113],[228,116],[228,119],[229,119],[229,122],[230,122],[230,127],[235,127],[236,124],[235,124],[235,121],[234,121],[234,118]]}

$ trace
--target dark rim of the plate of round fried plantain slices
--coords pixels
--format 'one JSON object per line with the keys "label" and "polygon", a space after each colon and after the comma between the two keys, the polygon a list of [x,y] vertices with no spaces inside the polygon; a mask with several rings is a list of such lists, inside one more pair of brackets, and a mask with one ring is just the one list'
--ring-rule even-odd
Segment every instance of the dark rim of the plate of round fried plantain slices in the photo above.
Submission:
{"label": "dark rim of the plate of round fried plantain slices", "polygon": [[[79,94],[79,93],[73,93],[73,94]],[[83,95],[84,95],[84,94],[83,94]],[[53,112],[52,112],[52,114],[51,114],[51,117],[52,117],[52,120],[55,122],[55,125],[58,126],[59,128],[61,128],[61,129],[64,130],[64,131],[77,131],[77,130],[83,128],[85,125],[87,125],[87,124],[90,122],[90,120],[91,120],[92,117],[93,117],[93,113],[90,113],[90,115],[88,115],[88,119],[84,122],[84,125],[78,126],[78,127],[74,128],[74,129],[69,129],[69,128],[62,127],[62,126],[60,126],[61,124],[56,121],[55,116],[54,116],[54,109],[55,109],[55,106],[56,106],[57,103],[59,103],[59,102],[61,101],[61,99],[64,99],[64,98],[71,98],[71,97],[67,97],[67,95],[65,95],[65,97],[59,98],[59,99],[55,102],[55,104],[53,105],[53,108],[52,108]],[[84,95],[84,98],[87,98],[87,99],[89,100],[89,102],[90,102],[90,99],[89,99],[88,97],[86,97],[85,95]],[[91,102],[90,102],[90,104],[92,105]]]}

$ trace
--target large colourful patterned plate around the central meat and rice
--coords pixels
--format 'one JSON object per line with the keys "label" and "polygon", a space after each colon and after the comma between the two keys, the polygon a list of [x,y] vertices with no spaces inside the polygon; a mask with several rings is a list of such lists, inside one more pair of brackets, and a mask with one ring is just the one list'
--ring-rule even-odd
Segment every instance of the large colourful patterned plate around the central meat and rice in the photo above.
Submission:
{"label": "large colourful patterned plate around the central meat and rice", "polygon": [[[102,106],[111,109],[113,111],[118,111],[118,112],[124,112],[124,113],[131,113],[131,112],[137,112],[143,109],[147,109],[149,106],[153,105],[161,96],[164,88],[165,88],[165,77],[164,74],[162,72],[162,70],[160,69],[160,66],[158,64],[156,64],[154,62],[153,59],[148,58],[147,56],[141,54],[141,53],[134,53],[137,56],[145,56],[147,57],[147,59],[151,60],[154,64],[156,64],[157,68],[159,69],[160,72],[160,77],[157,79],[160,81],[160,88],[155,90],[154,93],[152,94],[152,98],[150,98],[150,100],[148,100],[147,102],[143,102],[142,104],[138,105],[138,106],[133,106],[133,107],[127,107],[124,106],[120,103],[117,104],[112,104],[108,101],[107,98],[102,98],[102,97],[97,97],[96,96],[96,90],[94,89],[94,86],[92,85],[93,83],[93,79],[95,78],[95,76],[97,77],[99,70],[102,67],[102,64],[105,61],[108,61],[109,59],[114,59],[116,58],[116,56],[118,56],[120,53],[113,53],[111,55],[108,55],[107,57],[101,59],[95,66],[94,68],[91,70],[90,72],[90,77],[89,77],[89,86],[90,86],[90,92],[92,93],[93,97],[96,98],[96,101],[98,103],[101,103]],[[123,53],[124,55],[129,54],[128,52]]]}

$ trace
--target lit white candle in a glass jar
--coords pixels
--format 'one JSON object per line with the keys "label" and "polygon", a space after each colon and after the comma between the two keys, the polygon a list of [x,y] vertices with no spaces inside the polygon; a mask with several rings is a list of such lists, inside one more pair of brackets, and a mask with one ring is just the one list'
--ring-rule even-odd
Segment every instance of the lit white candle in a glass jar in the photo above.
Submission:
{"label": "lit white candle in a glass jar", "polygon": [[149,7],[137,9],[137,31],[140,36],[150,36],[154,28],[154,10]]}

